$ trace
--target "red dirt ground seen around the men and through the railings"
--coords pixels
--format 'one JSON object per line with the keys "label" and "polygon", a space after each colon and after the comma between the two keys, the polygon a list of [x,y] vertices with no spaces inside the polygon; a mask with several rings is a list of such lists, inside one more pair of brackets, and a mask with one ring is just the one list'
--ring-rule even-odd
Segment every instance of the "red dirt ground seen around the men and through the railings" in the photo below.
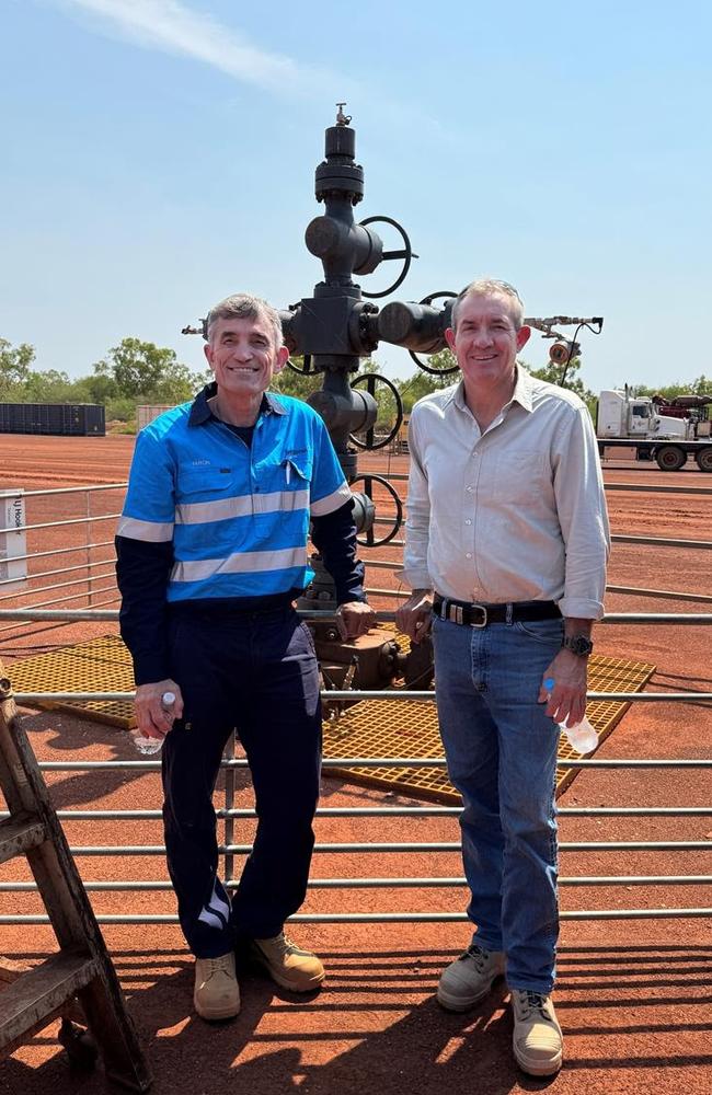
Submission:
{"label": "red dirt ground seen around the men and through the railings", "polygon": [[[125,479],[133,439],[0,437],[0,486],[26,489]],[[390,468],[389,468],[390,465]],[[368,470],[405,470],[406,458],[369,456]],[[712,479],[690,466],[679,473],[625,464],[606,464],[607,483],[712,487]],[[397,484],[404,494],[404,484]],[[709,539],[712,495],[608,495],[615,533]],[[94,495],[92,515],[116,512],[120,492]],[[28,499],[28,520],[41,522],[84,514],[83,496]],[[113,521],[93,527],[95,540],[110,540]],[[53,531],[56,544],[83,542],[76,527]],[[59,539],[61,537],[61,539]],[[47,550],[46,532],[31,533],[30,550]],[[101,552],[105,554],[101,554]],[[379,548],[376,558],[398,558],[399,550]],[[368,553],[364,555],[368,558]],[[95,549],[94,558],[110,558],[111,549]],[[77,562],[85,562],[76,553]],[[60,557],[61,560],[61,557]],[[678,548],[613,546],[609,583],[712,592],[709,556]],[[57,566],[68,565],[58,562]],[[49,568],[46,563],[43,568]],[[105,567],[111,570],[111,566]],[[82,576],[83,572],[77,572]],[[71,578],[45,579],[62,581]],[[97,584],[104,585],[103,583]],[[106,583],[110,585],[110,581]],[[388,570],[371,569],[369,585],[393,588]],[[82,587],[76,587],[82,588]],[[62,596],[57,590],[49,596]],[[69,593],[70,590],[67,590]],[[94,603],[108,599],[97,596]],[[43,598],[44,599],[44,598]],[[391,609],[393,599],[374,598]],[[0,602],[0,603],[11,603]],[[85,599],[68,601],[68,607]],[[610,595],[609,612],[697,612],[694,601],[665,601],[641,596]],[[7,631],[2,631],[8,627]],[[15,657],[32,648],[69,645],[115,632],[111,624],[60,626],[8,625],[0,621],[0,656],[11,669]],[[712,691],[709,631],[703,626],[601,625],[597,649],[613,657],[653,661],[657,671],[650,689]],[[25,726],[43,760],[133,759],[125,733],[57,713],[27,713]],[[597,757],[710,757],[709,707],[633,704]],[[158,776],[123,773],[56,773],[48,776],[61,809],[158,808]],[[560,806],[701,806],[709,805],[709,776],[701,771],[589,771],[577,776]],[[236,805],[251,803],[241,784]],[[412,800],[325,779],[323,806],[397,805]],[[413,805],[417,805],[413,803]],[[119,827],[120,826],[120,827]],[[67,822],[72,844],[111,842],[161,843],[158,821]],[[248,841],[251,825],[236,825],[236,840]],[[712,837],[712,818],[562,818],[561,839],[573,840],[703,840]],[[354,819],[317,822],[319,842],[348,840],[457,840],[451,819]],[[165,877],[161,857],[122,860],[78,857],[85,879]],[[458,875],[452,853],[402,855],[319,854],[312,876],[363,877],[380,874]],[[708,852],[616,853],[590,850],[564,852],[564,877],[593,875],[712,874]],[[26,878],[24,863],[8,864],[3,880]],[[562,908],[709,907],[709,886],[564,887]],[[99,913],[174,912],[170,894],[95,894]],[[460,912],[459,890],[314,890],[305,912],[452,911]],[[32,895],[1,895],[2,912],[42,911]],[[558,1095],[653,1093],[702,1095],[712,1088],[712,953],[709,919],[564,921],[559,959],[556,1006],[566,1035],[564,1069],[553,1081],[525,1077],[514,1067],[507,996],[497,989],[464,1016],[447,1015],[434,1001],[443,965],[467,942],[464,923],[364,925],[302,924],[294,934],[322,954],[329,978],[313,1000],[298,1000],[253,970],[241,978],[243,1007],[238,1021],[210,1028],[191,1013],[191,961],[173,926],[106,926],[104,934],[116,963],[129,1007],[146,1045],[157,1095],[222,1095],[250,1092],[272,1095],[301,1091],[310,1095],[436,1095],[462,1091],[504,1095],[550,1086]],[[46,927],[2,927],[0,954],[39,959],[53,949]],[[1,996],[0,996],[1,1007]],[[0,1070],[2,1095],[45,1095],[71,1090],[96,1095],[105,1090],[101,1070],[87,1077],[70,1073],[48,1028],[18,1050]]]}

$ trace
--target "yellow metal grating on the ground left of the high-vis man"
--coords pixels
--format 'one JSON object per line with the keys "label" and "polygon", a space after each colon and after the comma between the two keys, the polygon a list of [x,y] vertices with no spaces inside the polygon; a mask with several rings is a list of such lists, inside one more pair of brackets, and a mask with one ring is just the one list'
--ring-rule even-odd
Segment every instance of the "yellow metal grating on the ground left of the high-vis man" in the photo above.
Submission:
{"label": "yellow metal grating on the ground left of the high-vis man", "polygon": [[[15,692],[133,692],[131,657],[120,638],[105,635],[65,646],[35,658],[13,661],[9,676]],[[113,701],[37,701],[38,707],[82,714],[97,723],[129,729],[136,726],[134,704]]]}

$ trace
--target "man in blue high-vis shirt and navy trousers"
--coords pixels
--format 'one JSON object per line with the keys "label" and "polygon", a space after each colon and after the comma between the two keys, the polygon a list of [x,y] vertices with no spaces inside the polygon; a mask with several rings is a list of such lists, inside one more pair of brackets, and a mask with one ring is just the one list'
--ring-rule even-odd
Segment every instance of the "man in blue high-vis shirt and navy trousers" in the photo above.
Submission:
{"label": "man in blue high-vis shirt and navy trousers", "polygon": [[[168,865],[196,957],[195,1008],[215,1021],[240,1010],[236,946],[283,988],[309,992],[324,978],[319,958],[284,933],[306,895],[321,764],[317,658],[294,609],[313,577],[310,522],[342,637],[365,634],[375,614],[324,423],[267,392],[288,357],[278,313],[255,297],[226,298],[208,315],[205,353],[215,382],[138,435],[116,570],[139,733],[164,737]],[[213,792],[233,728],[257,828],[230,900]]]}

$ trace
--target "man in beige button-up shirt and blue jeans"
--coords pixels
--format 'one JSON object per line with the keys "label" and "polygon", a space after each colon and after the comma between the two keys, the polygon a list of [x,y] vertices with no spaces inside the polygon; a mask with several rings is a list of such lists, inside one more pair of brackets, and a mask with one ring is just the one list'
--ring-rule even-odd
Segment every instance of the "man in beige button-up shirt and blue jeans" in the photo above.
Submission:
{"label": "man in beige button-up shirt and blue jeans", "polygon": [[475,281],[456,301],[447,338],[462,379],[411,415],[403,578],[413,593],[398,619],[415,642],[433,625],[440,730],[464,806],[476,926],[438,1000],[464,1011],[506,971],[515,1057],[548,1075],[563,1053],[549,995],[558,724],[585,713],[609,530],[588,411],[517,365],[530,335],[522,314],[506,283]]}

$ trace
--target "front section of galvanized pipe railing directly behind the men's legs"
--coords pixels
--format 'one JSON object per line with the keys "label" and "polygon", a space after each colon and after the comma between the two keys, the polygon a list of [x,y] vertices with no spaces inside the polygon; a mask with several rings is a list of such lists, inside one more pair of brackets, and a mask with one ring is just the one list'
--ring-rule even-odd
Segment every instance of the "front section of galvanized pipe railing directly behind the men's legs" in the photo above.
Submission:
{"label": "front section of galvanized pipe railing directly behind the men's legs", "polygon": [[[115,619],[116,613],[112,610],[55,610],[42,613],[49,619]],[[331,619],[324,612],[305,612],[305,619],[312,622],[325,622]],[[32,610],[0,610],[2,618],[36,618]],[[393,613],[379,613],[379,622],[392,622]],[[616,624],[676,624],[709,625],[712,623],[712,613],[611,613],[606,616],[604,623]],[[432,703],[433,692],[409,692],[405,690],[381,690],[356,692],[352,690],[341,690],[323,693],[329,700],[348,701],[379,701],[388,699],[403,702]],[[19,703],[31,704],[42,700],[55,701],[92,701],[92,700],[130,700],[131,692],[24,692],[16,693],[15,700]],[[712,704],[712,692],[589,692],[590,701],[618,701],[643,704],[656,703],[694,703]],[[226,776],[225,807],[216,810],[218,821],[225,827],[225,839],[219,844],[219,853],[223,857],[226,866],[226,884],[228,889],[236,889],[238,881],[234,877],[233,860],[237,856],[250,854],[250,843],[236,843],[233,841],[233,825],[236,821],[252,821],[255,812],[252,807],[236,808],[236,784],[234,776],[248,766],[244,758],[234,756],[234,745],[230,747],[230,752],[222,761],[222,769]],[[101,761],[45,761],[41,763],[41,769],[45,772],[92,772],[92,771],[133,771],[151,772],[160,769],[158,760],[101,760]],[[330,769],[344,768],[443,768],[445,760],[441,758],[413,758],[413,757],[341,757],[328,758],[323,762],[326,772]],[[707,771],[712,769],[712,759],[667,759],[667,758],[595,758],[578,760],[560,760],[559,766],[564,770],[577,769],[581,771],[595,771],[601,769],[616,769],[621,771],[636,772],[641,770],[658,769],[667,772],[691,772],[692,770]],[[423,806],[368,806],[368,807],[320,807],[317,811],[317,820],[331,820],[336,822],[343,818],[450,818],[455,820],[459,815],[458,807],[423,805]],[[113,820],[125,822],[128,820],[152,820],[158,821],[161,817],[159,809],[135,809],[135,810],[59,810],[59,816],[68,822]],[[567,818],[705,818],[712,816],[712,807],[690,807],[690,806],[609,806],[609,807],[563,807],[559,810],[559,817],[565,822]],[[712,843],[705,840],[562,840],[559,844],[562,853],[629,853],[629,852],[651,852],[651,853],[675,853],[687,852],[709,852]],[[421,840],[421,841],[341,841],[324,842],[317,841],[314,853],[317,855],[383,855],[389,853],[420,855],[420,854],[458,854],[460,851],[459,840]],[[97,856],[162,856],[164,846],[162,844],[116,844],[116,845],[91,845],[74,844],[72,852],[78,857]],[[407,877],[374,876],[374,877],[313,877],[310,881],[310,891],[329,891],[344,889],[379,889],[379,890],[402,890],[402,889],[443,889],[445,891],[460,889],[464,887],[464,878],[459,875],[423,875]],[[712,885],[712,874],[605,874],[605,875],[562,875],[559,885],[563,889],[581,887],[641,887],[641,886],[709,886]],[[33,883],[9,881],[0,883],[0,892],[20,894],[30,892],[34,888]],[[126,879],[126,880],[89,880],[87,889],[92,892],[114,892],[114,891],[138,891],[138,890],[170,890],[171,884],[168,879]],[[563,920],[633,920],[633,919],[677,919],[677,918],[702,918],[712,915],[710,907],[681,907],[666,906],[661,908],[604,908],[604,909],[564,909]],[[101,923],[107,924],[130,924],[130,923],[176,923],[177,918],[173,914],[160,913],[119,913],[100,914]],[[299,913],[292,918],[301,922],[439,922],[439,921],[464,921],[467,917],[463,912],[441,911],[383,911],[383,912],[308,912]],[[24,915],[0,915],[0,924],[42,924],[47,918],[42,914]]]}

